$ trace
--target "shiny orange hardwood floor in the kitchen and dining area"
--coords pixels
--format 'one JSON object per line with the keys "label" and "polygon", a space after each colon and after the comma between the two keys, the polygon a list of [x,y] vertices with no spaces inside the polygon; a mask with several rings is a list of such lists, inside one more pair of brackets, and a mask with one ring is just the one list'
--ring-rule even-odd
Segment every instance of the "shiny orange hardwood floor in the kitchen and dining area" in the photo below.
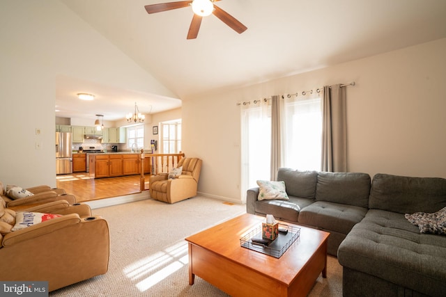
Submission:
{"label": "shiny orange hardwood floor in the kitchen and dining area", "polygon": [[[77,202],[85,202],[140,193],[139,178],[139,175],[129,175],[93,179],[86,172],[77,172],[70,175],[57,175],[56,186],[75,195]],[[148,176],[146,176],[145,188],[148,189]]]}

